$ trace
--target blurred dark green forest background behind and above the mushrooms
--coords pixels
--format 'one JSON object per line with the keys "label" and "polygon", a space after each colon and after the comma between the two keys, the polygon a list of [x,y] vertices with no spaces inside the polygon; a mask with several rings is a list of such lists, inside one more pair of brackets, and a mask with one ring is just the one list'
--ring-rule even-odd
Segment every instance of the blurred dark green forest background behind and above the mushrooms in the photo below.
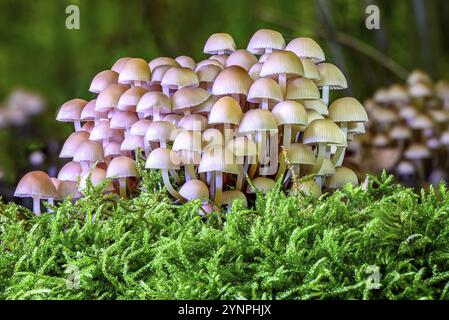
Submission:
{"label": "blurred dark green forest background behind and above the mushrooms", "polygon": [[[65,27],[70,4],[80,8],[80,30]],[[380,7],[380,30],[365,27],[370,4]],[[10,199],[25,171],[58,166],[71,132],[55,121],[58,108],[91,98],[91,78],[119,57],[201,60],[211,33],[246,47],[256,30],[272,28],[287,41],[316,39],[347,76],[343,94],[364,100],[415,68],[434,79],[449,74],[448,16],[446,0],[0,0],[0,101],[26,88],[47,104],[26,124],[0,121],[0,195]]]}

